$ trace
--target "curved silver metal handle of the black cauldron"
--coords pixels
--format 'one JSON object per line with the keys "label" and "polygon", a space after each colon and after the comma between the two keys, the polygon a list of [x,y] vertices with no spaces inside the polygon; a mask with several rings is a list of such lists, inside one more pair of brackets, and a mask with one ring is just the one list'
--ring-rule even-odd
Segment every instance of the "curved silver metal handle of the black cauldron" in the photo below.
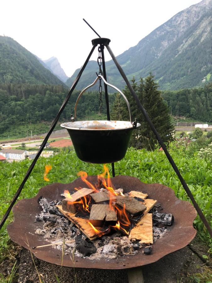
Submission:
{"label": "curved silver metal handle of the black cauldron", "polygon": [[76,120],[76,116],[77,116],[77,104],[79,102],[79,99],[80,97],[83,95],[83,93],[89,89],[91,86],[94,86],[96,84],[96,82],[99,80],[99,79],[102,79],[104,81],[104,83],[112,88],[114,88],[115,90],[117,90],[117,92],[119,92],[122,97],[124,98],[125,102],[127,103],[127,107],[128,107],[128,111],[129,111],[129,116],[130,116],[130,123],[133,125],[133,128],[136,128],[136,125],[137,125],[137,119],[135,120],[135,122],[132,122],[132,112],[131,112],[131,108],[130,108],[130,105],[129,105],[129,102],[127,100],[127,97],[123,94],[123,92],[120,91],[120,89],[118,89],[116,86],[113,86],[111,84],[109,84],[104,78],[102,75],[98,75],[95,79],[95,81],[89,85],[89,86],[86,86],[84,88],[84,90],[82,90],[82,92],[80,92],[79,96],[77,97],[77,101],[75,103],[75,107],[74,107],[74,117],[71,117],[71,121],[74,122]]}

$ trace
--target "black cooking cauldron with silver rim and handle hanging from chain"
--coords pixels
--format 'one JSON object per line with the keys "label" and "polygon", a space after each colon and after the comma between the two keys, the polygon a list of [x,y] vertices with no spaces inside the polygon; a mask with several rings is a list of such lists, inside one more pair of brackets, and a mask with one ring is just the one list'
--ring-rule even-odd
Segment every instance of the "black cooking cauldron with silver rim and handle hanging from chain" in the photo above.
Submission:
{"label": "black cooking cauldron with silver rim and handle hanging from chain", "polygon": [[[129,121],[75,121],[76,109],[82,94],[98,80],[103,80],[106,85],[111,86],[124,98],[129,111]],[[79,159],[89,163],[112,163],[124,158],[133,130],[140,124],[132,122],[132,113],[129,102],[125,95],[116,87],[109,84],[101,75],[95,81],[84,88],[77,98],[74,117],[71,122],[61,124],[68,130],[73,142],[73,147]]]}

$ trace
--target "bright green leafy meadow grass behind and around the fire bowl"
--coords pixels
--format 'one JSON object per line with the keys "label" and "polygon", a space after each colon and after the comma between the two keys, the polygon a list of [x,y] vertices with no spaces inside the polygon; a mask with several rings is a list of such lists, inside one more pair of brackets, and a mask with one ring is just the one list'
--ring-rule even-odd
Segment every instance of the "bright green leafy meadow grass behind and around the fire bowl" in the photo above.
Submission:
{"label": "bright green leafy meadow grass behind and around the fire bowl", "polygon": [[[202,209],[205,217],[211,220],[212,201],[212,165],[211,161],[198,158],[197,153],[189,155],[182,147],[176,147],[175,143],[169,145],[169,152],[176,162],[182,176],[187,182],[189,189]],[[0,163],[0,217],[6,212],[16,190],[32,161]],[[48,173],[49,182],[44,181],[43,174],[46,164],[52,165],[52,170]],[[111,171],[111,165],[109,164]],[[34,197],[39,189],[47,184],[61,182],[70,183],[77,178],[77,172],[84,170],[88,175],[97,175],[102,172],[101,164],[89,164],[79,160],[74,151],[61,150],[57,155],[50,158],[39,158],[33,172],[27,180],[24,189],[19,197]],[[158,148],[154,151],[135,150],[129,148],[125,158],[115,163],[116,175],[130,175],[139,178],[144,183],[161,183],[173,189],[176,196],[182,200],[189,201],[189,198],[167,160],[164,152]],[[12,213],[0,231],[0,262],[8,254],[11,248],[11,241],[6,230],[6,226],[13,221]],[[206,243],[208,248],[212,247],[212,242],[202,221],[199,217],[194,220],[194,226],[198,230],[201,241]]]}

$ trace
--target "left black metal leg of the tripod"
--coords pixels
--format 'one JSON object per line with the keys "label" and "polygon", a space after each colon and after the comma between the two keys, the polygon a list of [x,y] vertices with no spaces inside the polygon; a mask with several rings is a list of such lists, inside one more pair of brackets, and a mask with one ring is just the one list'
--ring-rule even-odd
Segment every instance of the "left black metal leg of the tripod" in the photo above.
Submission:
{"label": "left black metal leg of the tripod", "polygon": [[84,71],[86,65],[88,64],[88,61],[89,61],[89,59],[90,59],[92,53],[94,52],[95,47],[96,47],[96,45],[94,45],[94,46],[92,47],[92,49],[91,49],[91,51],[90,51],[90,53],[89,53],[89,55],[88,55],[88,57],[87,57],[87,59],[86,59],[84,65],[82,66],[81,70],[79,71],[79,74],[77,75],[76,79],[74,80],[74,82],[73,82],[73,84],[72,84],[72,86],[71,86],[71,88],[70,88],[70,91],[68,92],[67,97],[66,97],[65,100],[63,101],[63,104],[62,104],[62,106],[61,106],[59,112],[57,113],[57,116],[56,116],[56,118],[54,119],[54,121],[53,121],[53,123],[52,123],[52,125],[51,125],[51,128],[50,128],[48,134],[46,135],[44,141],[43,141],[42,144],[41,144],[41,147],[40,147],[39,151],[37,152],[37,154],[36,154],[36,156],[35,156],[35,159],[34,159],[33,162],[31,163],[31,165],[30,165],[28,171],[26,172],[26,175],[24,176],[24,180],[23,180],[22,183],[20,184],[20,186],[19,186],[17,192],[16,192],[15,195],[14,195],[14,198],[13,198],[13,200],[12,200],[10,206],[8,207],[6,213],[4,214],[3,219],[2,219],[2,221],[1,221],[1,223],[0,223],[0,230],[2,229],[2,226],[4,225],[4,222],[5,222],[6,219],[8,218],[8,215],[9,215],[11,209],[13,208],[13,206],[14,206],[16,200],[18,199],[18,197],[19,197],[19,195],[20,195],[20,193],[21,193],[21,191],[22,191],[22,189],[23,189],[23,187],[24,187],[24,184],[26,183],[27,179],[29,178],[29,176],[30,176],[30,174],[31,174],[31,172],[32,172],[32,170],[33,170],[33,168],[34,168],[34,166],[35,166],[35,163],[37,162],[39,156],[41,155],[41,152],[43,151],[43,149],[44,149],[44,147],[45,147],[45,145],[46,145],[46,142],[47,142],[48,139],[49,139],[49,136],[51,135],[52,131],[54,130],[54,128],[55,128],[55,126],[56,126],[56,124],[57,124],[57,122],[58,122],[58,120],[59,120],[59,118],[60,118],[60,115],[62,114],[62,112],[63,112],[63,110],[64,110],[66,104],[68,103],[68,100],[69,100],[69,98],[70,98],[70,96],[71,96],[73,90],[75,89],[75,87],[76,87],[76,85],[77,85],[77,83],[78,83],[78,81],[79,81],[79,79],[80,79],[80,77],[81,77],[81,75],[82,75],[82,73],[83,73],[83,71]]}

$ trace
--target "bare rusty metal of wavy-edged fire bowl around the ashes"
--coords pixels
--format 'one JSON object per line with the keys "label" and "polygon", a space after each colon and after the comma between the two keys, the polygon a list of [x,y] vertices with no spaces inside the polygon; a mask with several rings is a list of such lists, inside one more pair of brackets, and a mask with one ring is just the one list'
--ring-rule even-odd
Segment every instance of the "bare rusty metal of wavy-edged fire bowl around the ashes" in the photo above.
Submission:
{"label": "bare rusty metal of wavy-edged fire bowl around the ashes", "polygon": [[[95,184],[97,176],[89,176],[88,180]],[[139,250],[135,255],[110,260],[107,258],[90,260],[75,256],[76,268],[127,269],[138,267],[153,263],[171,252],[182,249],[193,240],[196,235],[196,230],[193,228],[193,220],[197,216],[196,210],[189,202],[179,200],[171,188],[161,184],[144,184],[137,178],[130,176],[116,176],[111,180],[113,185],[116,188],[122,188],[124,193],[132,190],[148,193],[149,198],[158,200],[163,207],[163,212],[174,215],[174,224],[164,237],[153,244],[153,251],[150,255],[144,255],[142,250]],[[10,238],[26,249],[29,249],[26,244],[27,240],[30,248],[49,244],[43,236],[35,234],[35,230],[43,226],[42,222],[35,222],[35,215],[41,212],[41,207],[37,202],[38,197],[43,196],[49,202],[56,199],[60,200],[60,194],[64,190],[74,190],[75,187],[79,186],[84,186],[84,182],[80,178],[70,184],[55,183],[41,188],[33,198],[20,200],[13,208],[14,222],[7,227]],[[37,258],[61,265],[62,252],[51,246],[31,249],[31,251]],[[69,255],[64,255],[63,266],[73,267]]]}

